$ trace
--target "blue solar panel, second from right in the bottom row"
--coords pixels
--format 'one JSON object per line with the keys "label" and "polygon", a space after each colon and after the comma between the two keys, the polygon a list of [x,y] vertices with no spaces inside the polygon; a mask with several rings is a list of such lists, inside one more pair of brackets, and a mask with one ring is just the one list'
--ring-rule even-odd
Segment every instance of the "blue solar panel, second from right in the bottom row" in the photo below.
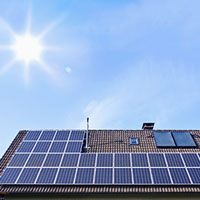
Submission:
{"label": "blue solar panel, second from right in the bottom row", "polygon": [[187,172],[184,168],[170,168],[169,170],[174,184],[190,183]]}

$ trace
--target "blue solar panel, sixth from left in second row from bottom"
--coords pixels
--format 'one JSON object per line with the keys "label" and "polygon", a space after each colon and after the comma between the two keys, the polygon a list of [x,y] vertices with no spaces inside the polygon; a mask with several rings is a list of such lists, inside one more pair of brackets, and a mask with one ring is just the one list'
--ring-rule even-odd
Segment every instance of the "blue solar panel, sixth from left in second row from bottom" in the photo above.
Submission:
{"label": "blue solar panel, sixth from left in second row from bottom", "polygon": [[113,154],[98,154],[97,167],[112,167]]}

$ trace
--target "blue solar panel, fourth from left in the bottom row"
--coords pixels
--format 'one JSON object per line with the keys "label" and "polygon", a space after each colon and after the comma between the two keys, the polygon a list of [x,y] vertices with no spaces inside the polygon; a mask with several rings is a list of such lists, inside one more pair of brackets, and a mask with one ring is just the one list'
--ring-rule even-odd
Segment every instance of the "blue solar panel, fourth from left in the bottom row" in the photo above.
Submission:
{"label": "blue solar panel, fourth from left in the bottom row", "polygon": [[73,184],[76,168],[60,168],[56,183]]}

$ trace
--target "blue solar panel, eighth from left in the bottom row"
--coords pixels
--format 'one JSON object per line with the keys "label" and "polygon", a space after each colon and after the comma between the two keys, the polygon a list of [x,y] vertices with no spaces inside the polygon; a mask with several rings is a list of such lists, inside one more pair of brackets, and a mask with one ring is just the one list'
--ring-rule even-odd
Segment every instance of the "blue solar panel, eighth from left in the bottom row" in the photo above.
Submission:
{"label": "blue solar panel, eighth from left in the bottom row", "polygon": [[151,184],[151,176],[148,168],[133,168],[133,180],[135,184]]}

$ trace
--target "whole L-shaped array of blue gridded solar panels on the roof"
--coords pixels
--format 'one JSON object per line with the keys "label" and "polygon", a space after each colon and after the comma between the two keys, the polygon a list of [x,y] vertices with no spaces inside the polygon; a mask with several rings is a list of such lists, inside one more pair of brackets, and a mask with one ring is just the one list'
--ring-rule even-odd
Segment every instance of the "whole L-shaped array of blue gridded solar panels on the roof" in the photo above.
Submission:
{"label": "whole L-shaped array of blue gridded solar panels on the roof", "polygon": [[29,131],[0,184],[200,184],[198,153],[81,153],[84,131]]}

